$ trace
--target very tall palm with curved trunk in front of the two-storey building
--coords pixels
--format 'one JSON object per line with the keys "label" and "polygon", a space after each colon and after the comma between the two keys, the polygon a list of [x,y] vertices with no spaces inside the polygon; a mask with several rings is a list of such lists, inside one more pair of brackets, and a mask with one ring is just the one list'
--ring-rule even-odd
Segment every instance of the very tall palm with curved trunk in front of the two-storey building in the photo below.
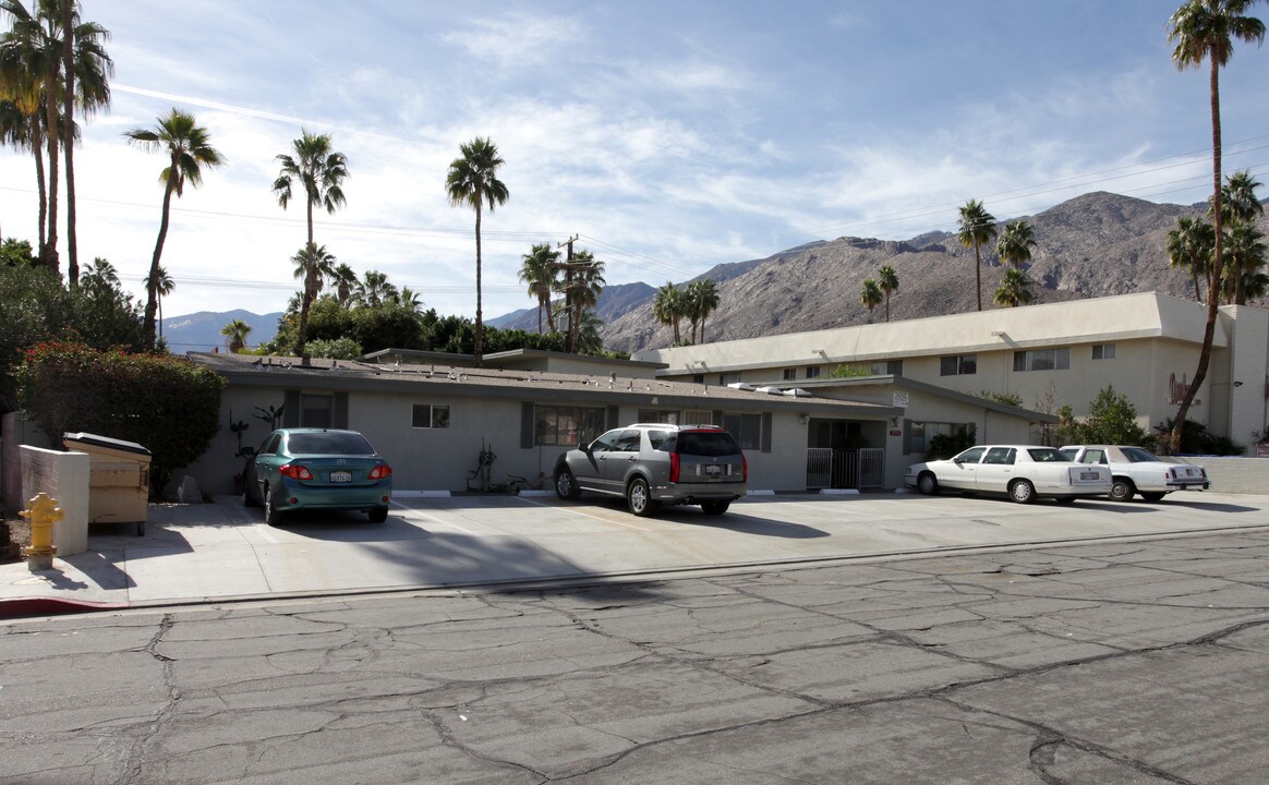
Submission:
{"label": "very tall palm with curved trunk in front of the two-storey building", "polygon": [[1207,379],[1207,367],[1212,361],[1212,342],[1216,337],[1217,298],[1221,292],[1221,68],[1233,55],[1233,41],[1260,43],[1265,25],[1255,16],[1242,14],[1255,0],[1187,0],[1167,19],[1167,41],[1175,43],[1173,63],[1178,70],[1198,68],[1207,60],[1212,96],[1212,228],[1216,242],[1212,246],[1212,274],[1208,285],[1207,327],[1203,331],[1203,349],[1198,358],[1198,370],[1185,389],[1185,396],[1173,421],[1171,446],[1180,448],[1181,429],[1194,403],[1194,396]]}

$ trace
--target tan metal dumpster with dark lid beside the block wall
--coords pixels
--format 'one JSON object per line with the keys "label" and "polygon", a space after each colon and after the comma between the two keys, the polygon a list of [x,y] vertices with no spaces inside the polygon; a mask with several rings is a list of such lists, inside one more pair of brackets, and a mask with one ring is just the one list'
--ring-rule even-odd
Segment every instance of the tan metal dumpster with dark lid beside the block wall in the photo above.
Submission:
{"label": "tan metal dumpster with dark lid beside the block wall", "polygon": [[85,432],[63,434],[62,443],[67,450],[89,455],[89,522],[135,522],[137,536],[145,534],[150,502],[150,450],[135,441]]}

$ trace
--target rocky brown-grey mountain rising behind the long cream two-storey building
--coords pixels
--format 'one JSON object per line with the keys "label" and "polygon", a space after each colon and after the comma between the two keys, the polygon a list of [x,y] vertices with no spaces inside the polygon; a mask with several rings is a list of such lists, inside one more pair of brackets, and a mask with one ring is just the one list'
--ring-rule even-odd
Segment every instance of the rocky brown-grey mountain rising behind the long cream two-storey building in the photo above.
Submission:
{"label": "rocky brown-grey mountain rising behind the long cream two-storey building", "polygon": [[[990,204],[987,205],[991,207]],[[1110,193],[1090,193],[1025,217],[1036,235],[1028,275],[1034,303],[1164,292],[1193,298],[1190,279],[1167,264],[1167,232],[1180,216],[1199,216],[1206,205],[1156,204]],[[1269,223],[1261,219],[1269,233]],[[982,307],[1004,268],[995,242],[982,252]],[[761,260],[720,265],[699,278],[718,283],[721,304],[704,327],[709,342],[886,320],[859,304],[864,279],[891,265],[900,288],[891,294],[891,321],[976,309],[973,250],[953,232],[930,232],[907,241],[839,237],[780,251]],[[684,322],[681,330],[689,330]],[[652,301],[632,308],[602,330],[604,345],[618,351],[669,346],[671,331],[652,316]],[[698,339],[699,340],[699,339]]]}

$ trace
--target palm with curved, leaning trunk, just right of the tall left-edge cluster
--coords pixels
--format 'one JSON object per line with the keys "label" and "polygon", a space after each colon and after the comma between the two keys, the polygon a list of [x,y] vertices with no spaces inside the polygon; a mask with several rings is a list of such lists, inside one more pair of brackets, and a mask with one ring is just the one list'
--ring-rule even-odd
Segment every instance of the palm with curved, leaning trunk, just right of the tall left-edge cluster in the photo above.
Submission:
{"label": "palm with curved, leaning trunk, just right of the tall left-edge cluster", "polygon": [[145,341],[155,346],[155,309],[159,303],[159,260],[162,256],[162,243],[168,238],[168,223],[171,216],[171,195],[180,197],[185,183],[197,188],[203,181],[203,167],[212,169],[225,162],[221,153],[212,147],[207,129],[194,120],[193,114],[173,109],[168,117],[157,118],[157,126],[133,128],[124,133],[128,142],[145,150],[166,152],[168,167],[159,174],[164,184],[162,218],[159,222],[159,241],[150,260],[150,274],[146,276]]}

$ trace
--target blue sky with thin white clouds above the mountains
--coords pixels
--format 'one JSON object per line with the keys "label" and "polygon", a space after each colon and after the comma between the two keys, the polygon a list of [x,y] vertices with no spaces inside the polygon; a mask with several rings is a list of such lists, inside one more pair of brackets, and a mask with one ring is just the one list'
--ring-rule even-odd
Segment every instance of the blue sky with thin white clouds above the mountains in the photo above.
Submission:
{"label": "blue sky with thin white clouds above the mountains", "polygon": [[[570,235],[610,284],[660,285],[812,240],[949,230],[970,198],[1004,219],[1091,190],[1211,188],[1207,71],[1176,71],[1166,41],[1176,0],[82,5],[115,76],[76,151],[81,263],[104,256],[142,292],[165,161],[126,131],[179,107],[227,159],[174,202],[166,316],[284,308],[303,209],[270,186],[301,128],[352,172],[317,242],[466,316],[475,216],[443,183],[476,136],[510,191],[485,217],[486,317],[532,307],[522,254]],[[1266,75],[1269,52],[1244,44],[1221,76],[1225,170],[1261,181]],[[6,237],[34,241],[34,193],[29,156],[0,153]]]}

